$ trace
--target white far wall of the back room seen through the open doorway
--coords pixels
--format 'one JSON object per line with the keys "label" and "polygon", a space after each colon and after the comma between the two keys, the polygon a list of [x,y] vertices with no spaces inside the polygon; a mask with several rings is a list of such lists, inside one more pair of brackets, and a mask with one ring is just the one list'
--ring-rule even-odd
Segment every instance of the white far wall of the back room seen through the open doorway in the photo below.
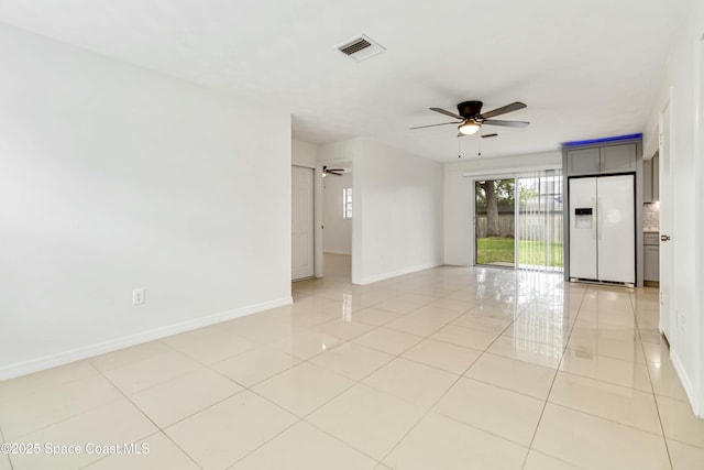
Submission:
{"label": "white far wall of the back room seen through the open doorway", "polygon": [[[342,218],[342,189],[352,187],[352,174],[328,175],[322,181],[322,187],[323,251],[326,253],[352,254],[352,219]],[[354,193],[352,194],[352,207],[354,211]]]}

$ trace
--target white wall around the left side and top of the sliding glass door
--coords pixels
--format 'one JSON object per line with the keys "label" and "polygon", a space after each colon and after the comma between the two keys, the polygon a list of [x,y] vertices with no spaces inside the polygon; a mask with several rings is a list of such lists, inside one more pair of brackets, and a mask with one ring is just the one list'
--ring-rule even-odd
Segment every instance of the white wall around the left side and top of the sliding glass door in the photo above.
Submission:
{"label": "white wall around the left side and top of the sliding glass door", "polygon": [[559,151],[529,155],[470,159],[444,165],[444,263],[474,264],[474,187],[472,176],[514,173],[562,166]]}

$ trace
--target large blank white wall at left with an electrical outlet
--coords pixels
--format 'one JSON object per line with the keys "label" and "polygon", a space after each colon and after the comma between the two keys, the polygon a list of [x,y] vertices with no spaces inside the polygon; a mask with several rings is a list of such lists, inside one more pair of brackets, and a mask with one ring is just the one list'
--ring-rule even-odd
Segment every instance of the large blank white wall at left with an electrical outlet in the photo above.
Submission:
{"label": "large blank white wall at left with an electrical outlet", "polygon": [[4,26],[0,63],[0,380],[290,302],[288,114]]}

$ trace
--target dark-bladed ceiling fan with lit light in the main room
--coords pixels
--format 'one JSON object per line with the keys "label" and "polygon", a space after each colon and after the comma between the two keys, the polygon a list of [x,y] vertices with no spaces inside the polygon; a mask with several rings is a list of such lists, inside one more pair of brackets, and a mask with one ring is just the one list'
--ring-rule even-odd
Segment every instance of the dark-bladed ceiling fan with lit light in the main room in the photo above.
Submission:
{"label": "dark-bladed ceiling fan with lit light in the main room", "polygon": [[[442,108],[430,108],[431,111],[439,112],[444,116],[449,116],[454,119],[459,119],[459,121],[453,122],[441,122],[439,124],[430,124],[430,125],[418,125],[415,128],[410,128],[410,130],[415,129],[425,129],[425,128],[435,128],[437,125],[448,125],[455,124],[458,125],[458,136],[463,135],[472,135],[476,133],[482,124],[487,125],[504,125],[506,128],[525,128],[530,124],[527,121],[503,121],[499,119],[491,119],[495,116],[506,114],[507,112],[518,111],[519,109],[526,108],[526,105],[520,101],[512,102],[510,105],[503,106],[501,108],[496,108],[492,111],[487,111],[482,114],[482,101],[463,101],[458,105],[458,113],[447,111]],[[492,138],[498,134],[484,134],[483,138]]]}

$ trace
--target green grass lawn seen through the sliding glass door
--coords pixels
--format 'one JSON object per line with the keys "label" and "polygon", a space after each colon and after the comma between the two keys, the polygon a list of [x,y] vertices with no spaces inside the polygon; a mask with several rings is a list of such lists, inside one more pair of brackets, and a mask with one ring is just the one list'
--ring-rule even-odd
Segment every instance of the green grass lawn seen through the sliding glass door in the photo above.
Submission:
{"label": "green grass lawn seen through the sliding glass door", "polygon": [[[488,237],[476,240],[476,264],[514,263],[514,239]],[[546,249],[552,248],[552,264],[562,266],[562,243],[552,243],[546,248],[543,241],[518,240],[520,264],[544,265]]]}

